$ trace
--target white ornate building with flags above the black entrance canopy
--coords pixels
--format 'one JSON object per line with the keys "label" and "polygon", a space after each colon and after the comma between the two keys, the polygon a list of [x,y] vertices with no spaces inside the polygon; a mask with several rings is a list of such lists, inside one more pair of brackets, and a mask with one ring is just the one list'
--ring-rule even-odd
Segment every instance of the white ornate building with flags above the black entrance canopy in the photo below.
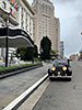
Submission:
{"label": "white ornate building with flags above the black entrance canopy", "polygon": [[[27,0],[0,0],[0,28],[9,26],[12,29],[24,30],[33,40],[33,15],[34,11]],[[15,48],[9,48],[9,53]],[[5,48],[0,48],[0,56],[5,57]]]}

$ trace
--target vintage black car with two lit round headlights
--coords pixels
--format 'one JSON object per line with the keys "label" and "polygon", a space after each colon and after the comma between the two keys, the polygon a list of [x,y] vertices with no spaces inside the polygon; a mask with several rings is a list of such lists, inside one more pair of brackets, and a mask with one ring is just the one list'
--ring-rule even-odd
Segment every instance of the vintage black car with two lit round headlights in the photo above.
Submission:
{"label": "vintage black car with two lit round headlights", "polygon": [[49,79],[51,78],[68,78],[71,80],[72,70],[69,59],[55,59],[52,67],[48,69]]}

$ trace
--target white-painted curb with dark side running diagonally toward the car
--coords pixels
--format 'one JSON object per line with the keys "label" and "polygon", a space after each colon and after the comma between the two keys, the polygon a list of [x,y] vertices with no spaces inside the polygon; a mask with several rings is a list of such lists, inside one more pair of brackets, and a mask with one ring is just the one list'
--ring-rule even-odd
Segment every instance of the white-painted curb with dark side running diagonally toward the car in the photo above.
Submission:
{"label": "white-painted curb with dark side running diagonally toward the car", "polygon": [[8,105],[3,110],[16,110],[31,95],[32,92],[48,77],[48,74],[40,78],[37,82],[35,82],[32,87],[30,87],[26,91],[24,91],[21,96],[19,96],[15,100],[13,100],[10,105]]}

